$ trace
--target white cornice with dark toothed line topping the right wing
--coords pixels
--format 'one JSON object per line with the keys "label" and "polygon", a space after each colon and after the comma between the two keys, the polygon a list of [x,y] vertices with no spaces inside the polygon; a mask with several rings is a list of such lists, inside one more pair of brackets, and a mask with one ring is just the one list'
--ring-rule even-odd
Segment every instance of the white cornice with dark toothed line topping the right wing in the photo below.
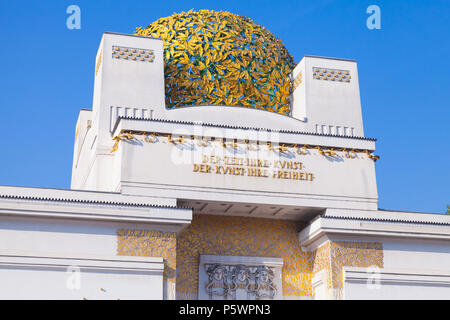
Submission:
{"label": "white cornice with dark toothed line topping the right wing", "polygon": [[313,251],[330,235],[450,241],[450,216],[327,209],[299,232],[299,241],[303,250]]}

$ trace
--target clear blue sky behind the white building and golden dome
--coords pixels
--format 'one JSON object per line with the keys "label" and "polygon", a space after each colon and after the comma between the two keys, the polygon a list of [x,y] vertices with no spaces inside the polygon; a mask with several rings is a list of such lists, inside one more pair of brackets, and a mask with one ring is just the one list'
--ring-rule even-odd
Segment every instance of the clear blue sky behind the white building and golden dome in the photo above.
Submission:
{"label": "clear blue sky behind the white building and golden dome", "polygon": [[[81,9],[69,30],[66,9]],[[381,8],[381,29],[366,8]],[[248,16],[299,62],[358,62],[365,134],[378,139],[379,207],[444,212],[450,204],[450,1],[0,0],[0,185],[69,188],[75,122],[91,108],[104,31],[133,33],[194,8]]]}

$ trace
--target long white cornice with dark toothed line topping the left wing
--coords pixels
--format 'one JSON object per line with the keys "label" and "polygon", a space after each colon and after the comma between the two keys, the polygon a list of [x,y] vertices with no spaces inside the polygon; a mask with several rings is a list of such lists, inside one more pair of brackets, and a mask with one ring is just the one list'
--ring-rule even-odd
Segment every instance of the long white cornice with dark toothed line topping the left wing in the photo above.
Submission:
{"label": "long white cornice with dark toothed line topping the left wing", "polygon": [[0,187],[0,216],[164,224],[180,227],[190,224],[192,209],[152,204],[150,201],[145,203],[145,200],[150,199],[152,198],[133,196],[128,198],[120,194],[91,191]]}

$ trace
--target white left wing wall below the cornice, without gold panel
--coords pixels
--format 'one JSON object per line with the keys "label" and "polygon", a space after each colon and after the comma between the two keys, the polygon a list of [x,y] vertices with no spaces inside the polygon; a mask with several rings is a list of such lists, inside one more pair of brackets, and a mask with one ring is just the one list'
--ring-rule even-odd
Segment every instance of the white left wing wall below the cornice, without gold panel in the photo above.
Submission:
{"label": "white left wing wall below the cornice, without gold panel", "polygon": [[[167,298],[163,259],[117,256],[120,228],[174,231],[170,225],[149,228],[139,223],[2,215],[0,299]],[[136,259],[144,266],[133,265]],[[81,268],[81,287],[76,290],[66,286],[71,266]]]}

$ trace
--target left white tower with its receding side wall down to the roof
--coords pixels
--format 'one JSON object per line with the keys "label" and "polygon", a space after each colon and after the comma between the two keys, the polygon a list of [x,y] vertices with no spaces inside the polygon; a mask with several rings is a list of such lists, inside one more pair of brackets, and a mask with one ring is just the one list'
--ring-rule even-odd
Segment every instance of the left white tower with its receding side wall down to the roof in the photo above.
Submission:
{"label": "left white tower with its receding side wall down to the roof", "polygon": [[77,122],[71,187],[117,191],[115,120],[161,117],[164,111],[163,41],[105,32],[95,60],[92,111],[83,110]]}

